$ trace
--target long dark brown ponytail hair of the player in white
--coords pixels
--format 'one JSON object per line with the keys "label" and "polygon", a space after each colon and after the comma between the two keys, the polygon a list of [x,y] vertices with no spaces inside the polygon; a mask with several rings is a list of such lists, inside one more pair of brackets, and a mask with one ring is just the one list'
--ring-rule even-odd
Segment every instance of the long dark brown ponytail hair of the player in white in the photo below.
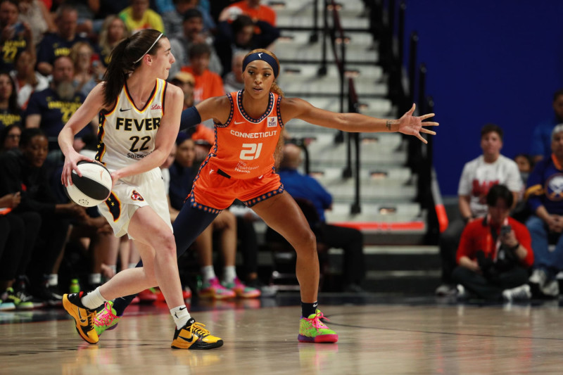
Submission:
{"label": "long dark brown ponytail hair of the player in white", "polygon": [[[158,30],[141,30],[127,39],[123,39],[111,51],[108,69],[106,74],[103,75],[103,81],[106,82],[103,89],[103,103],[106,106],[111,106],[115,102],[115,98],[118,97],[129,74],[143,63],[142,59],[139,60],[139,58],[147,53],[153,56],[156,54],[160,42],[165,38],[164,36],[161,37],[158,43],[154,44],[160,34],[161,32]],[[151,48],[153,44],[154,46]],[[147,51],[149,48],[151,48],[150,51]]]}

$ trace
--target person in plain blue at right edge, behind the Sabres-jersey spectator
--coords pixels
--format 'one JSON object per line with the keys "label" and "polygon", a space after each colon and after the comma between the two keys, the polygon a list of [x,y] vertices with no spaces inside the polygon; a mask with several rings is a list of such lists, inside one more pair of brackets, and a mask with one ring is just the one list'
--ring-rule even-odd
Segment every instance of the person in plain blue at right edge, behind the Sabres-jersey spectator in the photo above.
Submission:
{"label": "person in plain blue at right edge, behind the Sabres-jersey spectator", "polygon": [[532,144],[530,154],[534,161],[551,157],[552,131],[555,125],[563,123],[563,89],[555,91],[553,94],[554,115],[549,120],[540,122],[533,129]]}

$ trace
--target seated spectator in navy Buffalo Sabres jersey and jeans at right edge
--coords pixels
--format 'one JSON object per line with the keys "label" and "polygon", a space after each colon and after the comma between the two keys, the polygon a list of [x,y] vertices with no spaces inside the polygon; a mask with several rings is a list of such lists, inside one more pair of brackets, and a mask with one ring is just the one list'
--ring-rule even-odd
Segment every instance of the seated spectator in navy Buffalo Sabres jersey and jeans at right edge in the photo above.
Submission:
{"label": "seated spectator in navy Buffalo Sabres jersey and jeans at right edge", "polygon": [[[526,227],[535,255],[533,291],[557,297],[555,276],[563,270],[563,124],[555,126],[551,139],[551,158],[540,160],[528,177],[526,199],[533,215]],[[555,243],[555,251],[548,250],[549,243]]]}

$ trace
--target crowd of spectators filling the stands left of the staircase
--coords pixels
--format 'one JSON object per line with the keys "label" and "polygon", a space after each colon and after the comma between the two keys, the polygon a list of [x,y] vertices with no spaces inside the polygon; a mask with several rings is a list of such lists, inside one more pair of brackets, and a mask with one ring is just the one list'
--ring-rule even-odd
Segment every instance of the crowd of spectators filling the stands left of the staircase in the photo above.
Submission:
{"label": "crowd of spectators filling the stands left of the staircase", "polygon": [[[219,18],[223,11],[228,20]],[[232,32],[239,18],[250,26],[242,39]],[[168,81],[184,91],[184,108],[225,93],[223,77],[230,77],[237,61],[229,54],[267,48],[279,36],[274,11],[256,0],[0,1],[0,310],[58,305],[70,280],[94,288],[136,263],[131,241],[115,239],[95,208],[86,210],[65,196],[58,182],[63,158],[56,138],[103,77],[113,47],[146,28],[170,39],[177,63]],[[77,151],[95,153],[97,128],[94,118],[77,134]],[[193,159],[201,160],[213,144],[213,130],[199,125],[184,138],[195,148]],[[178,148],[183,157],[184,144]],[[189,164],[198,161],[182,157],[172,158],[170,165],[172,220],[197,171]],[[195,246],[202,289],[213,298],[222,292],[260,295],[260,284],[248,287],[234,271],[237,231],[246,233],[239,247],[245,248],[248,263],[257,256],[256,241],[249,239],[253,231],[237,229],[237,220],[226,211]],[[213,248],[222,253],[222,282],[213,273]]]}

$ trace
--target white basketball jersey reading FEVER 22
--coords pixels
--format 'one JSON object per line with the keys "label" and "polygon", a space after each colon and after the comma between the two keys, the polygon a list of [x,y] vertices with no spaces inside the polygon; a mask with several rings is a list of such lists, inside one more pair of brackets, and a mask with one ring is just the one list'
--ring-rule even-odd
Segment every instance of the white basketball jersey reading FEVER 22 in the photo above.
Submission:
{"label": "white basketball jersey reading FEVER 22", "polygon": [[156,132],[164,114],[167,82],[157,79],[143,108],[134,105],[127,84],[108,113],[100,113],[96,160],[110,170],[137,162],[154,151]]}

